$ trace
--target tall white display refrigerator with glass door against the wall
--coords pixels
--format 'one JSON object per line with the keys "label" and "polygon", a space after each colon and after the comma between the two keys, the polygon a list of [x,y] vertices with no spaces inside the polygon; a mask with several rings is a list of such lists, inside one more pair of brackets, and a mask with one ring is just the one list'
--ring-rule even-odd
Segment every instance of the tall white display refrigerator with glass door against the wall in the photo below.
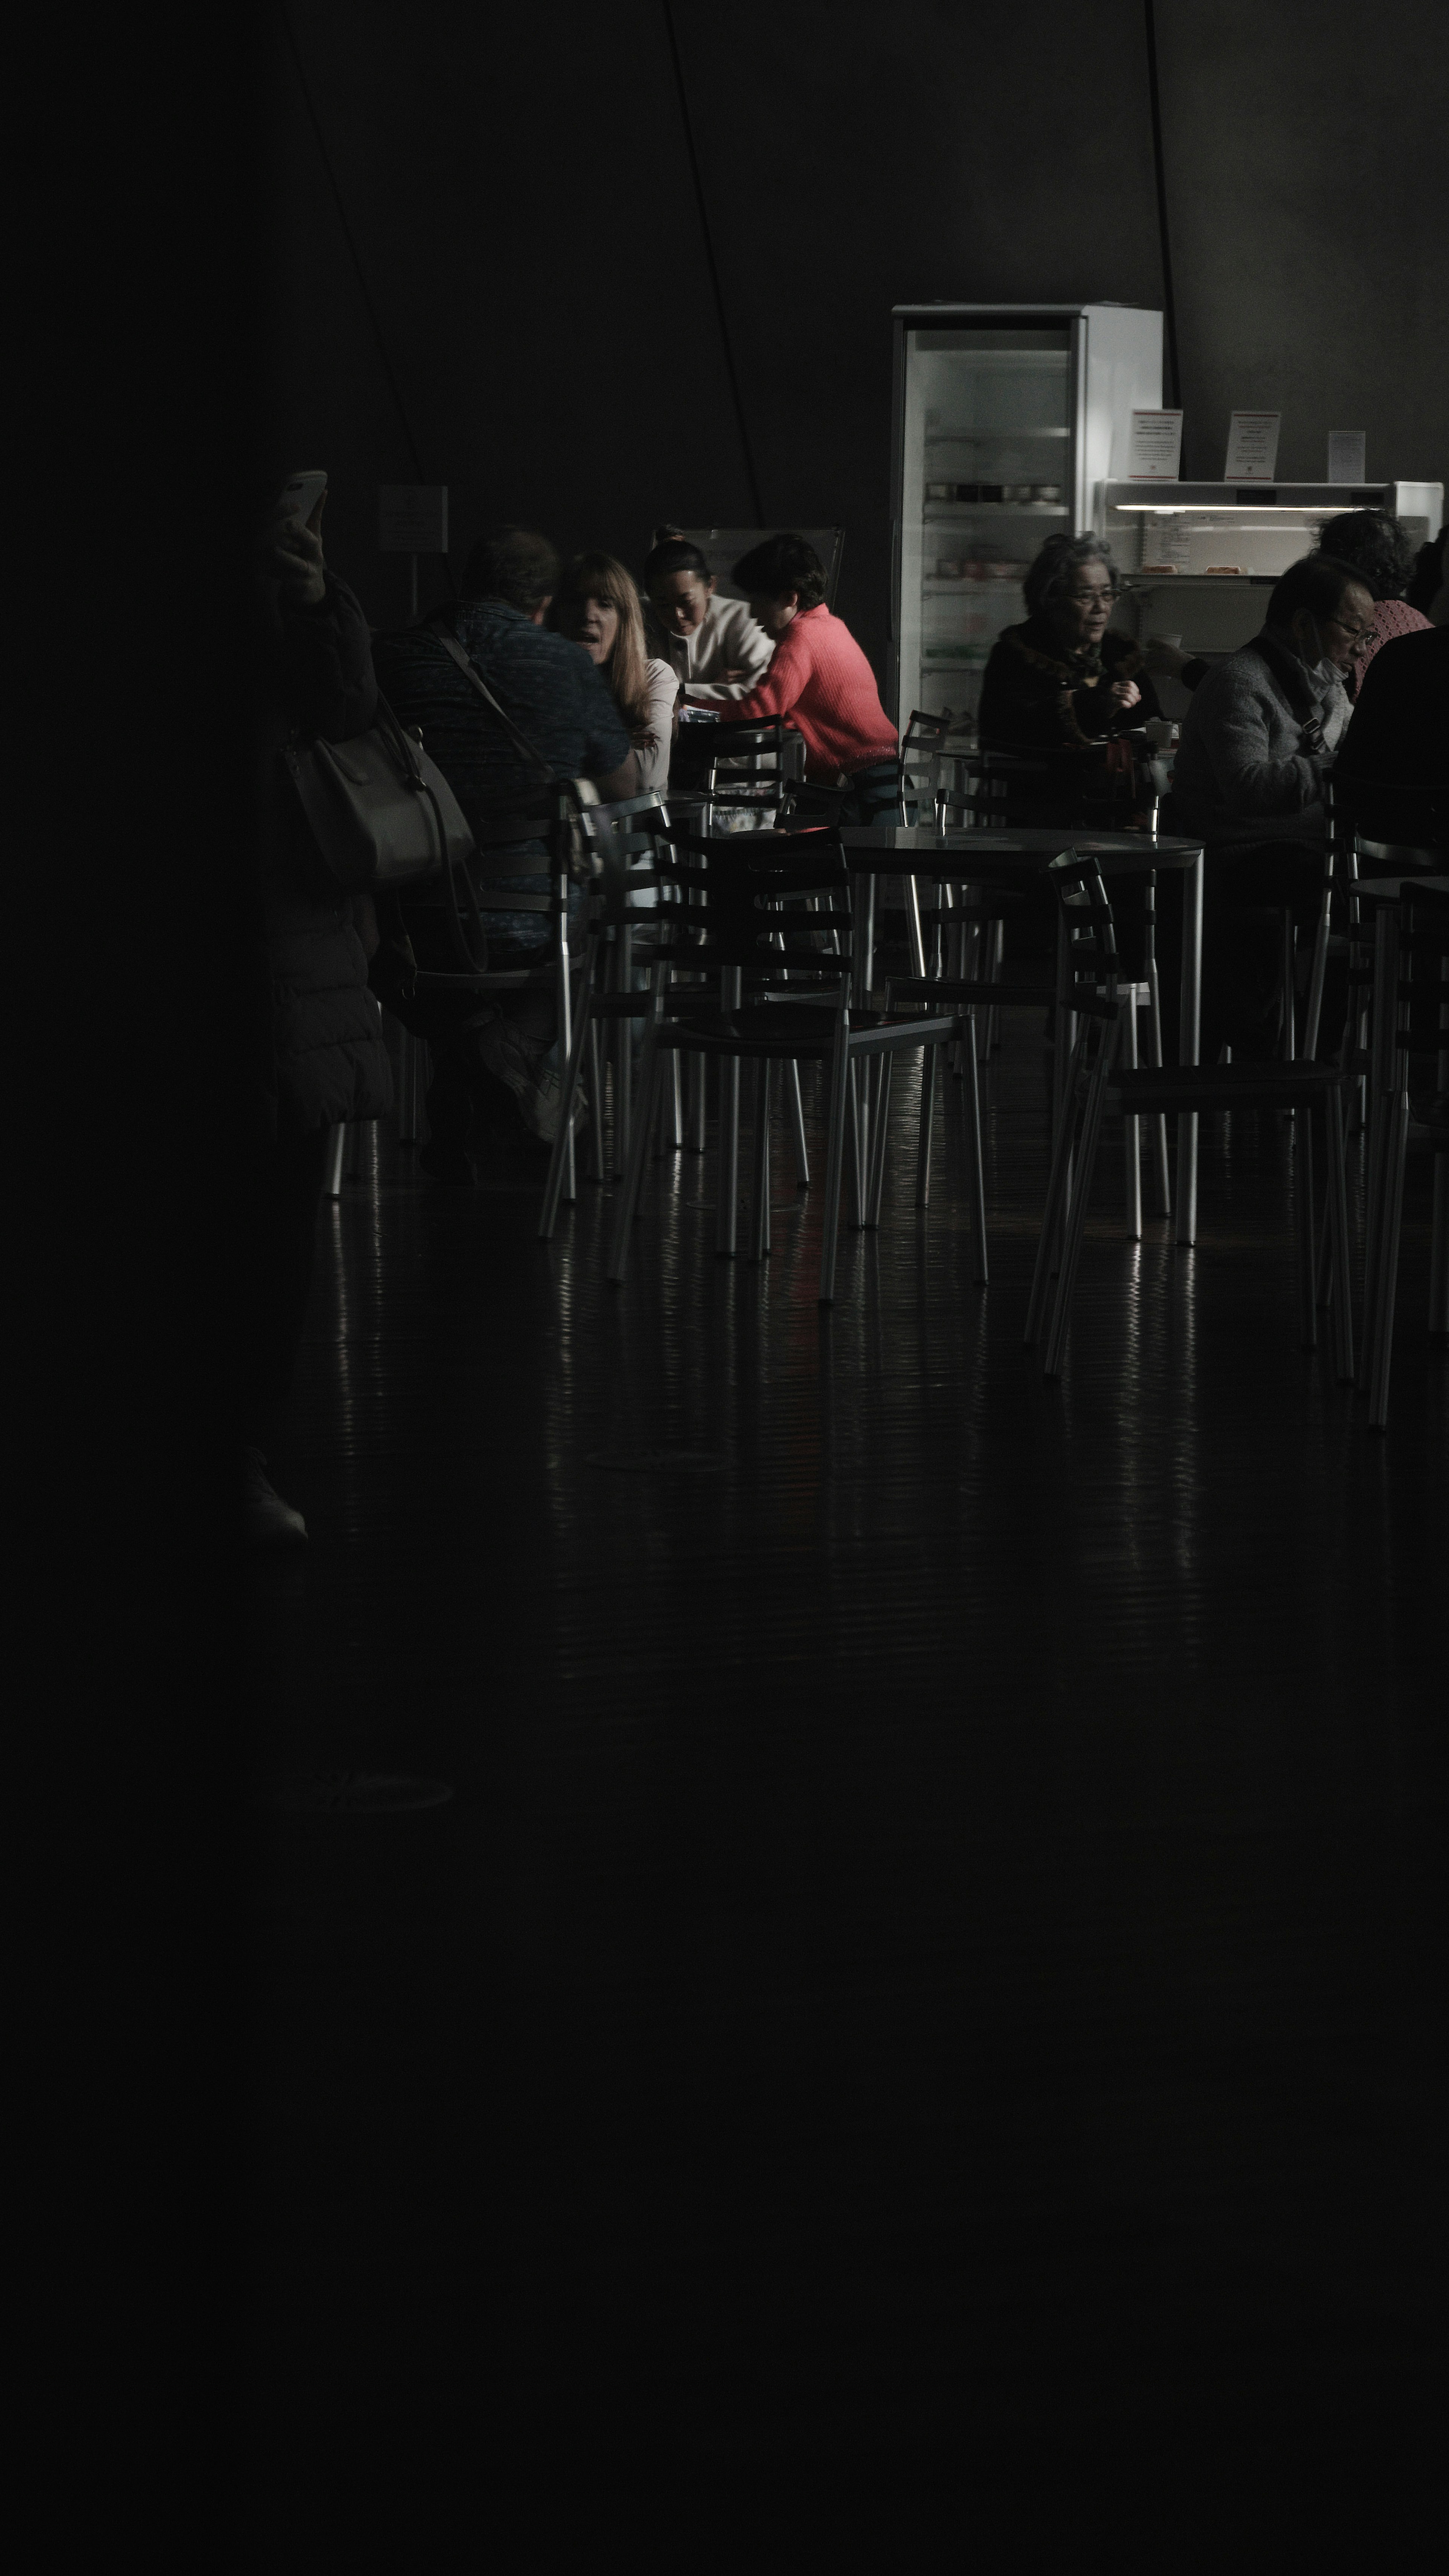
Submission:
{"label": "tall white display refrigerator with glass door against the wall", "polygon": [[1132,304],[897,304],[890,711],[975,734],[1042,538],[1101,523],[1132,412],[1163,404],[1163,317]]}

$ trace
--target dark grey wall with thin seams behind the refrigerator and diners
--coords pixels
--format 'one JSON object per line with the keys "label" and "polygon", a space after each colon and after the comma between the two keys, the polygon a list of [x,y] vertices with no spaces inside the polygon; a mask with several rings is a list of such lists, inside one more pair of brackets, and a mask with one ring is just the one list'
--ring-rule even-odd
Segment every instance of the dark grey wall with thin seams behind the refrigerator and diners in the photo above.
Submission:
{"label": "dark grey wall with thin seams behind the refrigerator and diners", "polygon": [[[1366,430],[1369,477],[1444,479],[1446,23],[1158,0],[1183,471],[1271,407],[1284,479],[1323,477],[1330,428]],[[508,518],[637,567],[660,520],[750,526],[755,487],[768,526],[846,528],[838,605],[879,667],[892,304],[1163,304],[1140,0],[286,0],[273,26],[271,440],[327,469],[374,623],[405,613],[379,484],[449,487],[454,569]]]}

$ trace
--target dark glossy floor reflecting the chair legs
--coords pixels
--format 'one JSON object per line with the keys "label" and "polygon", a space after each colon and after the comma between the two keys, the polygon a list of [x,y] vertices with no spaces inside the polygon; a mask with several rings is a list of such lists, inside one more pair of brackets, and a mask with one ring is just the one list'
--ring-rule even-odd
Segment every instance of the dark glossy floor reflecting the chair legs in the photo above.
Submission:
{"label": "dark glossy floor reflecting the chair legs", "polygon": [[[1387,1437],[1297,1347],[1276,1118],[1207,1123],[1194,1252],[1160,1218],[1127,1244],[1109,1133],[1044,1386],[1044,1061],[1008,1020],[985,1291],[954,1087],[913,1206],[915,1079],[828,1316],[784,1131],[763,1267],[714,1257],[714,1154],[655,1167],[624,1291],[598,1188],[541,1247],[536,1175],[446,1193],[384,1133],[325,1211],[266,1754],[454,1798],[284,1816],[258,1870],[258,2566],[361,2563],[294,2540],[289,2478],[320,2530],[333,2478],[369,2499],[379,2563],[596,2563],[503,2548],[526,2463],[541,2499],[652,2460],[696,2501],[915,2463],[967,2478],[969,2530],[982,2463],[1029,2501],[1093,2460],[1104,2545],[1155,2465],[1163,2568],[1258,2563],[1194,2555],[1181,2499],[1230,2473],[1413,2491],[1428,1162]],[[428,2499],[459,2463],[492,2537],[451,2555]],[[706,2524],[676,2566],[717,2563]],[[817,2563],[794,2548],[719,2563]]]}

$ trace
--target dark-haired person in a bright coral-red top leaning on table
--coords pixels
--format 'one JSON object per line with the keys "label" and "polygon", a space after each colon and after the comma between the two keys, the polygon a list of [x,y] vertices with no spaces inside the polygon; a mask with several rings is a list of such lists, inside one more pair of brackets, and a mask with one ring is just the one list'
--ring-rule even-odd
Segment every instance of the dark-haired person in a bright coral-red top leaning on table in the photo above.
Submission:
{"label": "dark-haired person in a bright coral-red top leaning on table", "polygon": [[[766,536],[732,580],[773,644],[766,675],[745,698],[714,706],[722,724],[789,719],[804,737],[804,778],[851,786],[853,814],[895,811],[900,747],[879,703],[877,675],[843,618],[825,608],[825,564],[807,536]],[[686,688],[694,698],[694,688]]]}

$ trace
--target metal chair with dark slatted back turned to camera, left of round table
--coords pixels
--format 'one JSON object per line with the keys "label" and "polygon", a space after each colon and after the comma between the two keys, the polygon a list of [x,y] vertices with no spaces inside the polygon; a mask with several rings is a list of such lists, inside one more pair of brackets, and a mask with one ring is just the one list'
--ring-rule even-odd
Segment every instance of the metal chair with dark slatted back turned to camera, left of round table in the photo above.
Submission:
{"label": "metal chair with dark slatted back turned to camera, left of round table", "polygon": [[959,1015],[895,1020],[871,1010],[864,1018],[851,1005],[853,927],[848,873],[833,835],[804,832],[768,845],[743,840],[737,848],[701,842],[694,832],[676,837],[673,904],[663,912],[670,953],[660,966],[688,966],[719,976],[719,999],[704,1005],[665,992],[660,971],[650,994],[639,1059],[639,1115],[634,1123],[629,1172],[619,1193],[608,1278],[624,1280],[639,1185],[650,1141],[650,1121],[663,1064],[688,1051],[719,1061],[719,1206],[717,1252],[737,1249],[737,1108],[740,1066],[755,1066],[755,1180],[753,1180],[753,1257],[771,1249],[771,1079],[776,1064],[817,1061],[830,1069],[828,1087],[828,1164],[825,1224],[820,1257],[820,1303],[835,1296],[835,1239],[841,1177],[848,1172],[851,1221],[864,1226],[866,1211],[879,1213],[884,1182],[884,1121],[877,1126],[877,1151],[866,1167],[859,1118],[851,1105],[859,1092],[856,1066],[877,1054],[908,1046],[946,1046],[959,1036]]}

